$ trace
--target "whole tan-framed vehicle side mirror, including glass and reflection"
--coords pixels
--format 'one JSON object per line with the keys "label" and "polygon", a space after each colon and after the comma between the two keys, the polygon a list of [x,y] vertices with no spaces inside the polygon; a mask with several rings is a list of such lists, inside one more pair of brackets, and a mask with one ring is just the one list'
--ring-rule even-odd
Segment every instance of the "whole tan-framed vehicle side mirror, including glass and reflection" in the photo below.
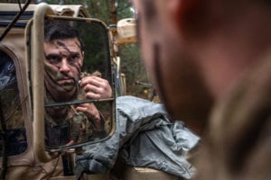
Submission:
{"label": "whole tan-framed vehicle side mirror, including glass and reflection", "polygon": [[116,102],[107,26],[97,19],[54,15],[46,5],[41,12],[29,23],[28,51],[34,150],[46,162],[52,157],[48,152],[109,138]]}

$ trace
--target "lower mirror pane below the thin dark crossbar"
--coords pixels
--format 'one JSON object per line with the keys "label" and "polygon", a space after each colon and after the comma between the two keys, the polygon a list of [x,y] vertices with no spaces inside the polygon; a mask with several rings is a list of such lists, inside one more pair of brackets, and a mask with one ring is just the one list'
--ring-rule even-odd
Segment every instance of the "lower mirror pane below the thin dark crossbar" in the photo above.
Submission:
{"label": "lower mirror pane below the thin dark crossbar", "polygon": [[57,109],[69,109],[69,114],[64,119],[52,119],[49,115],[55,108],[47,107],[45,121],[46,145],[58,147],[60,145],[73,145],[89,140],[102,139],[107,137],[111,127],[112,112],[110,103],[89,103],[92,108],[98,109],[98,118],[89,117],[87,113],[76,111],[77,106],[58,106]]}

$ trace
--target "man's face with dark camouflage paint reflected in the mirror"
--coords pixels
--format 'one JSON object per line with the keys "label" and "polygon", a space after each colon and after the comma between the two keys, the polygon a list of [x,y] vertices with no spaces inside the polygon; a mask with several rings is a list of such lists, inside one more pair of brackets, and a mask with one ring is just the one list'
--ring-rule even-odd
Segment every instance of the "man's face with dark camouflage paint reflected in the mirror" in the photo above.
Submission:
{"label": "man's face with dark camouflage paint reflected in the mirror", "polygon": [[45,84],[58,92],[74,91],[79,81],[83,52],[77,38],[44,43]]}

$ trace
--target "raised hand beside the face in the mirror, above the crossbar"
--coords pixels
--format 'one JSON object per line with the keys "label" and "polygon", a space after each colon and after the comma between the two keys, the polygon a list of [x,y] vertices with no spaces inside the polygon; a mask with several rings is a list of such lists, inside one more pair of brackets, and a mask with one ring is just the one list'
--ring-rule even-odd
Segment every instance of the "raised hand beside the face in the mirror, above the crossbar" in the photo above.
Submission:
{"label": "raised hand beside the face in the mirror, above the crossbar", "polygon": [[86,92],[87,99],[109,98],[112,88],[106,79],[98,76],[85,76],[81,79],[81,87]]}

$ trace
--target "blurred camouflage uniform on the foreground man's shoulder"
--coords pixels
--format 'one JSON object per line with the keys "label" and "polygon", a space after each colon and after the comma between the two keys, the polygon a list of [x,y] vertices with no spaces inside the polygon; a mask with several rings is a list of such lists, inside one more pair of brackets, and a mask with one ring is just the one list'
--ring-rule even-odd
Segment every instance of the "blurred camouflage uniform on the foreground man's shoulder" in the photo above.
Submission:
{"label": "blurred camouflage uniform on the foreground man's shoulder", "polygon": [[271,179],[270,55],[214,109],[198,179]]}

